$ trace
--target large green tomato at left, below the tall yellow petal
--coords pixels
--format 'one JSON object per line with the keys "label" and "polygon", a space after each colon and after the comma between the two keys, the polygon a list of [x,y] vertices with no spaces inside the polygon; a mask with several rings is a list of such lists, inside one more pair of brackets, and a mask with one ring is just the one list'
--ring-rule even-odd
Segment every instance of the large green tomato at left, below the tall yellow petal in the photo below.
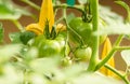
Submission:
{"label": "large green tomato at left, below the tall yellow petal", "polygon": [[[39,51],[39,57],[62,56],[69,54],[69,46],[65,42],[65,36],[62,33],[54,40],[46,39],[43,36],[35,38],[32,43]],[[66,48],[65,48],[66,47]]]}

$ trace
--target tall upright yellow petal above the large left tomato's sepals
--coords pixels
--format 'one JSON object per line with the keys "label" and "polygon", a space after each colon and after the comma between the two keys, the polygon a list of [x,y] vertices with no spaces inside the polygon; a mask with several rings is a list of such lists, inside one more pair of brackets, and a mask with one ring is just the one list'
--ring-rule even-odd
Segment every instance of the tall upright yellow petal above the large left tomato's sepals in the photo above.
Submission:
{"label": "tall upright yellow petal above the large left tomato's sepals", "polygon": [[42,0],[39,23],[38,23],[41,29],[44,28],[47,20],[49,20],[49,29],[51,31],[52,26],[54,25],[54,13],[53,13],[52,0]]}

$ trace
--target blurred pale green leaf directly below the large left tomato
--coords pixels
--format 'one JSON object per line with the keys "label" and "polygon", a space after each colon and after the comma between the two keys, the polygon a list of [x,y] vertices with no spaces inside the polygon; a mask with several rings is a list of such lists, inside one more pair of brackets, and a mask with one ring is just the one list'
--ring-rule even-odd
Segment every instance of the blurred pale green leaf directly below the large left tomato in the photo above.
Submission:
{"label": "blurred pale green leaf directly below the large left tomato", "polygon": [[47,74],[57,70],[57,60],[54,57],[37,58],[30,61],[30,67],[38,73]]}

